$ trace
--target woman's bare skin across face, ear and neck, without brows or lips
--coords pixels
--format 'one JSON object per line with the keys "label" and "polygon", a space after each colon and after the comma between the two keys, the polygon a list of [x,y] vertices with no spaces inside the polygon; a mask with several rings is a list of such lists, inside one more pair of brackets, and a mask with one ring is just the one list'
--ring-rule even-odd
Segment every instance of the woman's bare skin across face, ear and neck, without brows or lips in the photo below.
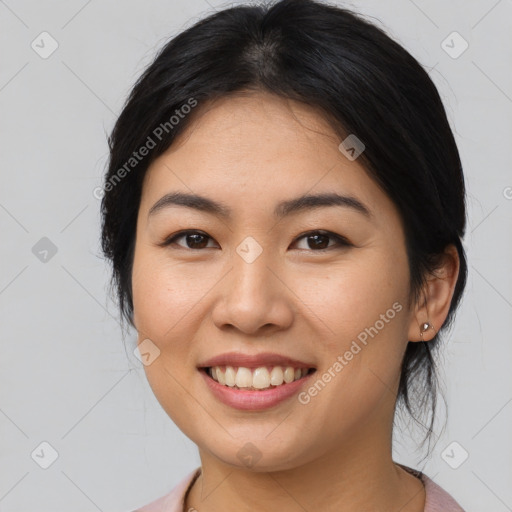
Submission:
{"label": "woman's bare skin across face, ear and neck, without brows or lips", "polygon": [[[423,511],[423,484],[392,460],[393,411],[408,341],[421,340],[423,322],[438,328],[447,316],[455,248],[429,280],[426,302],[409,305],[399,213],[358,160],[339,151],[339,136],[317,111],[253,93],[193,115],[145,176],[132,275],[138,341],[160,350],[145,366],[148,381],[201,457],[184,510]],[[220,201],[232,218],[184,206],[148,216],[173,191]],[[359,199],[371,219],[339,206],[272,216],[282,200],[333,191]],[[190,248],[197,245],[187,237],[159,245],[185,229],[205,233],[205,248]],[[330,247],[319,252],[302,236],[314,230],[351,245],[327,237]],[[236,252],[247,236],[263,249],[250,264]],[[271,351],[321,375],[395,302],[401,311],[306,405],[295,396],[263,411],[236,410],[197,369],[224,352]],[[252,467],[237,456],[248,442],[261,454]]]}

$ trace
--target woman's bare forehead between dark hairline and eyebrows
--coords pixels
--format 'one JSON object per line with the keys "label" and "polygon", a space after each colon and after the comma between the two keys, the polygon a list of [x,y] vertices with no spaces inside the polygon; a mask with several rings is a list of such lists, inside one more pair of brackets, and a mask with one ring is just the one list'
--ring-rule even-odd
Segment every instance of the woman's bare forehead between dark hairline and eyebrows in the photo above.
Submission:
{"label": "woman's bare forehead between dark hairline and eyebrows", "polygon": [[241,212],[337,192],[357,196],[377,215],[396,214],[365,168],[339,151],[342,139],[318,109],[251,93],[199,105],[192,115],[148,169],[141,208],[175,190],[215,196]]}

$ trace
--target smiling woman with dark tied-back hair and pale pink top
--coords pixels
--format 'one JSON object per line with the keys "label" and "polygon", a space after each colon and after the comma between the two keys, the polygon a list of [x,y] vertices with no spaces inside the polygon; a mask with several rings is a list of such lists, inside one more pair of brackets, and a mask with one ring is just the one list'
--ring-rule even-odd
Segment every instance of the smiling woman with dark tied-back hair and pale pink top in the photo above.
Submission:
{"label": "smiling woman with dark tied-back hair and pale pink top", "polygon": [[461,511],[391,454],[398,405],[433,422],[467,273],[461,162],[418,62],[312,0],[225,9],[161,50],[110,150],[120,310],[201,457],[139,510]]}

